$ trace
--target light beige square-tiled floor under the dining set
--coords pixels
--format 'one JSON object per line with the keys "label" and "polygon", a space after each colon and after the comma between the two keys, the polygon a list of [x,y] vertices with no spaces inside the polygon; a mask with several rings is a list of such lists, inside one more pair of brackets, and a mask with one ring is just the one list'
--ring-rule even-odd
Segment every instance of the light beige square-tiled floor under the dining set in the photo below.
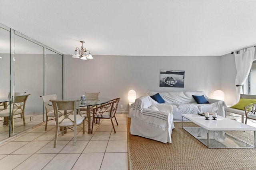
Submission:
{"label": "light beige square-tiled floor under the dining set", "polygon": [[[117,114],[114,127],[110,120],[94,125],[93,134],[83,134],[82,125],[77,128],[77,144],[74,132],[58,136],[53,148],[54,121],[47,131],[42,124],[0,144],[0,165],[4,170],[128,170],[126,114]],[[88,129],[88,125],[85,127]]]}

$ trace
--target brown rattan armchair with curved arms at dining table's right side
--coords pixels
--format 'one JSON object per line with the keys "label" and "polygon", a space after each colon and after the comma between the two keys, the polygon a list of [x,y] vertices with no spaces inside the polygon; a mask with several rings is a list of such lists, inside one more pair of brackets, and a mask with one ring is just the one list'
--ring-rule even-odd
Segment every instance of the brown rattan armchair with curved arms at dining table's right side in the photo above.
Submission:
{"label": "brown rattan armchair with curved arms at dining table's right side", "polygon": [[[115,118],[116,120],[116,110],[117,110],[117,106],[118,106],[118,102],[119,102],[120,98],[116,98],[113,99],[111,101],[109,101],[106,104],[100,105],[99,107],[96,107],[92,110],[92,130],[93,130],[93,123],[95,121],[95,119],[98,119],[98,124],[100,124],[100,119],[110,119],[114,132],[116,133],[116,130],[114,128],[114,123],[112,121],[112,118]],[[116,124],[118,125],[117,121]],[[91,133],[92,133],[91,130]]]}

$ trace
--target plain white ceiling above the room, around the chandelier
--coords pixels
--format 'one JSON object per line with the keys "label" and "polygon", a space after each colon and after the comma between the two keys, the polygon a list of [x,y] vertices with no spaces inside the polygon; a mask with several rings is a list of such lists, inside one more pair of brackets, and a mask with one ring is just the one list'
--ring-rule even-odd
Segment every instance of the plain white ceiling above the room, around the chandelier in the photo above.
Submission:
{"label": "plain white ceiling above the room, around the chandelier", "polygon": [[1,0],[0,23],[61,53],[225,55],[256,45],[254,0]]}

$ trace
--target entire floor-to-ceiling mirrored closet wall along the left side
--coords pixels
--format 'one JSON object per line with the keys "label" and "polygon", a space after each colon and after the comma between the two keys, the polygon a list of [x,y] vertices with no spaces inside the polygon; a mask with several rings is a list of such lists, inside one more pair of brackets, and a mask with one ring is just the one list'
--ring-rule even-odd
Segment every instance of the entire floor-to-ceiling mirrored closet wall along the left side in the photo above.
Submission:
{"label": "entire floor-to-ceiling mirrored closet wall along the left side", "polygon": [[[58,99],[62,99],[63,55],[2,24],[0,24],[0,37],[0,141],[2,141],[45,121],[44,103],[40,96],[57,94]],[[14,113],[12,108],[15,110],[24,104],[17,103],[20,95],[28,95],[24,107],[24,119],[22,114],[12,114]],[[1,113],[8,113],[8,116],[1,117]]]}

